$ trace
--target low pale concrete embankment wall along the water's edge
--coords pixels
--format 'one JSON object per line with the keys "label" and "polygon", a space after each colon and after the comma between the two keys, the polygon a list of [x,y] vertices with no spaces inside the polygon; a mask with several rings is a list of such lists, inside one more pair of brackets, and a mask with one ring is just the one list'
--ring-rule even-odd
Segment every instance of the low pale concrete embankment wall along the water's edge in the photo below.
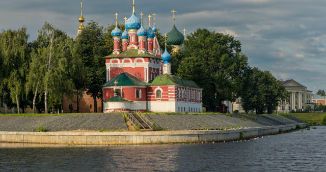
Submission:
{"label": "low pale concrete embankment wall along the water's edge", "polygon": [[[299,124],[306,127],[306,123]],[[173,142],[229,141],[293,130],[296,124],[236,130],[144,131],[144,132],[8,132],[0,131],[0,142],[39,144],[160,144]]]}

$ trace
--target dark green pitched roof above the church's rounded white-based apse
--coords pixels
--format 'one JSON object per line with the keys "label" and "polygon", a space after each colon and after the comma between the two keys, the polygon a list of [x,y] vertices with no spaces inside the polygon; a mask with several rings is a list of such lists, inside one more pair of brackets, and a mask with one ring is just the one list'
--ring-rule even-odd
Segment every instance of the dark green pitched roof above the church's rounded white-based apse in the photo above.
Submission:
{"label": "dark green pitched roof above the church's rounded white-based apse", "polygon": [[124,86],[124,85],[147,85],[144,81],[141,79],[131,75],[128,72],[123,72],[120,73],[118,76],[114,77],[110,81],[104,83],[102,87],[104,86],[115,86],[116,84],[114,83],[117,81],[117,86]]}

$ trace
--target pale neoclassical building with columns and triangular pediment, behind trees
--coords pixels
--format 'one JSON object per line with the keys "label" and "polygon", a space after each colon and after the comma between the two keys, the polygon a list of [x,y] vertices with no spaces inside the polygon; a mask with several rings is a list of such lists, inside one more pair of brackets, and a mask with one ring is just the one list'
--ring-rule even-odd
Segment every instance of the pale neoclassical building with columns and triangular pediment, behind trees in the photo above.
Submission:
{"label": "pale neoclassical building with columns and triangular pediment, behind trees", "polygon": [[312,91],[307,90],[307,87],[293,79],[281,81],[281,84],[290,93],[290,102],[281,102],[277,107],[278,112],[304,110],[307,106],[313,106]]}

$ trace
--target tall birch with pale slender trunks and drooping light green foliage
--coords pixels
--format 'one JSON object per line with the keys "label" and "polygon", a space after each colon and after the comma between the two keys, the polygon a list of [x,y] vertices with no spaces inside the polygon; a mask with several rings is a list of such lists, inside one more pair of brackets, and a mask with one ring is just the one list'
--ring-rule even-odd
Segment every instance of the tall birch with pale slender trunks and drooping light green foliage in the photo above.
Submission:
{"label": "tall birch with pale slender trunks and drooping light green foliage", "polygon": [[33,45],[31,70],[26,87],[34,93],[33,111],[35,112],[35,100],[40,91],[44,93],[45,113],[48,113],[49,94],[53,105],[62,102],[63,92],[71,92],[74,89],[71,77],[76,74],[77,69],[71,54],[73,40],[45,22]]}

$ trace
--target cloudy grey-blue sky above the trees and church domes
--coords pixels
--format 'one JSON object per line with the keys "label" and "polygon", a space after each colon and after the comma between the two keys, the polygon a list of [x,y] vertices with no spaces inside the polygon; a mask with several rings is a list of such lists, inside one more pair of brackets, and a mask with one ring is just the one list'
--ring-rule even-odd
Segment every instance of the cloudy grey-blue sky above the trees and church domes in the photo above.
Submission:
{"label": "cloudy grey-blue sky above the trees and church domes", "polygon": [[[29,41],[45,21],[70,37],[79,26],[80,0],[0,0],[0,30],[26,26]],[[124,23],[132,0],[83,0],[84,25],[91,20],[106,27]],[[270,71],[277,79],[293,79],[308,90],[326,90],[326,1],[324,0],[135,0],[135,13],[144,13],[144,26],[153,13],[160,33],[176,27],[186,34],[208,28],[240,40],[249,65]]]}

